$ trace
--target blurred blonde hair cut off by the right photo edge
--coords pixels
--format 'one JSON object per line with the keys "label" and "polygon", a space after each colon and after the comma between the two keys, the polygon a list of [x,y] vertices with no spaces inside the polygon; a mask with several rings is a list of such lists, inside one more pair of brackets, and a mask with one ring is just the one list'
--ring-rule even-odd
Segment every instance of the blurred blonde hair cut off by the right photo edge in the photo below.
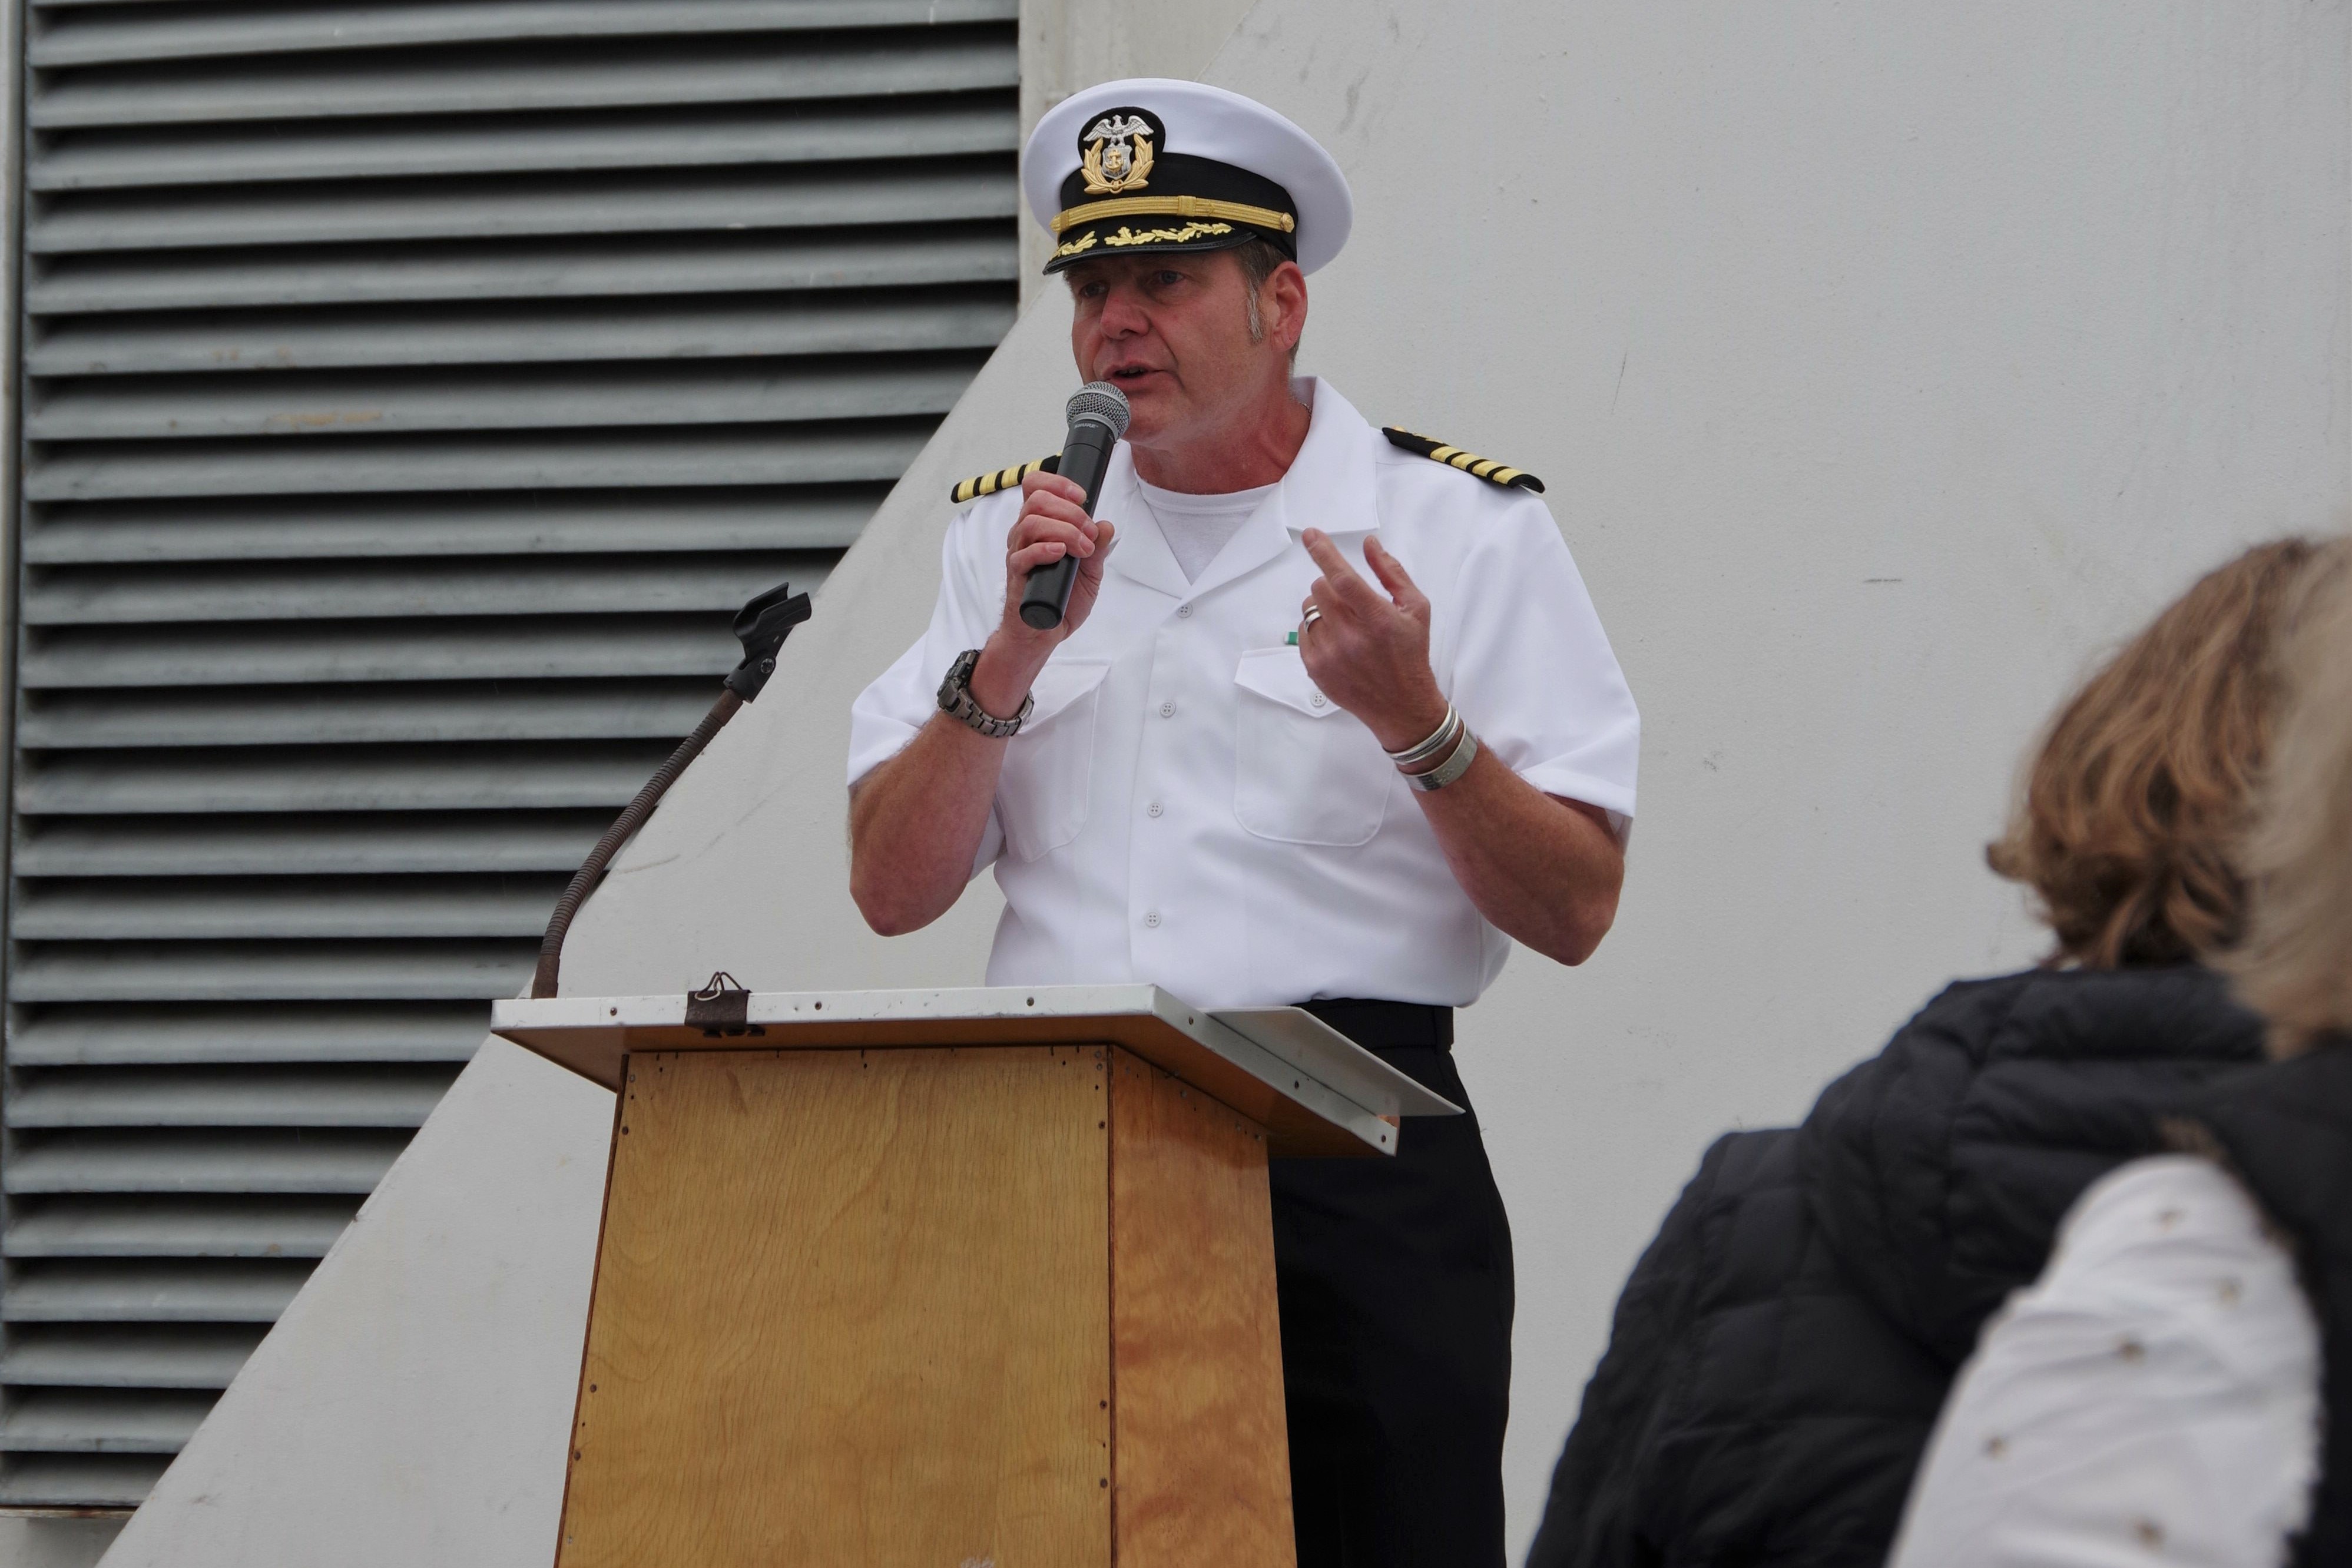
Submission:
{"label": "blurred blonde hair cut off by the right photo edge", "polygon": [[2253,893],[2237,992],[2272,1056],[2352,1034],[2352,538],[2324,550],[2293,611],[2284,705],[2239,865]]}

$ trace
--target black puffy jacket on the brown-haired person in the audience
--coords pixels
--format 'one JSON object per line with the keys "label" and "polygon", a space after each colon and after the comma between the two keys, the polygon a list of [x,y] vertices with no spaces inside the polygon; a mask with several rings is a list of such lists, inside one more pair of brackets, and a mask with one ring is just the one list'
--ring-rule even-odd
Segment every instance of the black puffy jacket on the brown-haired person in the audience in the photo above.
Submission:
{"label": "black puffy jacket on the brown-haired person in the audience", "polygon": [[1802,1128],[1722,1138],[1618,1298],[1529,1568],[1884,1563],[1985,1316],[2260,1046],[2204,969],[1962,980]]}

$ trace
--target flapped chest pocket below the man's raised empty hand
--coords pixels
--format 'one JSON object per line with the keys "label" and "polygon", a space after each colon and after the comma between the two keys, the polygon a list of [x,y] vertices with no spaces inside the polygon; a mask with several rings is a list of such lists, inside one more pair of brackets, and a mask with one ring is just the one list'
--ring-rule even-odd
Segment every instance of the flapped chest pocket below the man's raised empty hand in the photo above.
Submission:
{"label": "flapped chest pocket below the man's raised empty hand", "polygon": [[1261,839],[1364,844],[1397,769],[1362,719],[1315,689],[1298,649],[1251,649],[1232,672],[1240,731],[1232,816]]}

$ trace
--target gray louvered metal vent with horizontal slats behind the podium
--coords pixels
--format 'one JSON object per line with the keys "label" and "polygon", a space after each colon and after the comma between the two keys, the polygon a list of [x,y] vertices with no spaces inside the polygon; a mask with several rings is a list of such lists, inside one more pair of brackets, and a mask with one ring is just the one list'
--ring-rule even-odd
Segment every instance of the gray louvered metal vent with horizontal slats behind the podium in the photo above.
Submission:
{"label": "gray louvered metal vent with horizontal slats behind the podium", "polygon": [[33,0],[0,1505],[129,1505],[1014,320],[1016,0]]}

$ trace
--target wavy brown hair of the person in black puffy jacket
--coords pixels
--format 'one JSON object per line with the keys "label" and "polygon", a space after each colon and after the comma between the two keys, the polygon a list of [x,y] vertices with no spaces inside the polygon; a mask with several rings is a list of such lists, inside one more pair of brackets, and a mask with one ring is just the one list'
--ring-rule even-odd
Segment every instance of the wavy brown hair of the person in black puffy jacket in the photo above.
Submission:
{"label": "wavy brown hair of the person in black puffy jacket", "polygon": [[1985,846],[2042,903],[2049,964],[2180,964],[2237,940],[2277,628],[2319,552],[2279,538],[2204,574],[2051,719]]}

